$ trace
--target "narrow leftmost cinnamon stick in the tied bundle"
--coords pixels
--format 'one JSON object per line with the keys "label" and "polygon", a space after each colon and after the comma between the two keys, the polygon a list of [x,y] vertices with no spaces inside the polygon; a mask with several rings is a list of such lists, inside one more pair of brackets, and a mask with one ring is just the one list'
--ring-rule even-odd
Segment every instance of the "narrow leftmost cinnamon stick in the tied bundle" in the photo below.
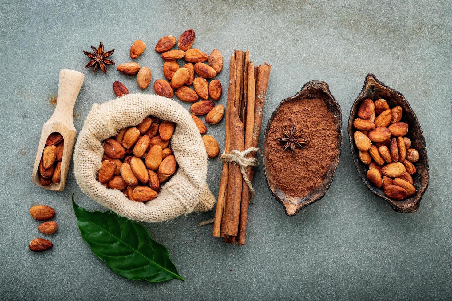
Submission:
{"label": "narrow leftmost cinnamon stick in the tied bundle", "polygon": [[[229,69],[229,88],[227,95],[227,104],[226,104],[226,134],[225,134],[225,151],[229,153],[231,151],[230,148],[230,114],[231,104],[234,102],[234,93],[235,93],[235,56],[231,56],[231,65]],[[218,200],[217,200],[217,208],[215,211],[215,221],[213,222],[213,236],[220,237],[221,236],[221,222],[224,222],[224,214],[225,203],[226,203],[226,192],[228,187],[228,175],[229,175],[229,167],[226,162],[223,163],[223,171],[221,172],[221,181],[220,181],[220,191],[218,192]],[[224,233],[224,232],[223,232]],[[224,235],[223,235],[224,236]]]}

